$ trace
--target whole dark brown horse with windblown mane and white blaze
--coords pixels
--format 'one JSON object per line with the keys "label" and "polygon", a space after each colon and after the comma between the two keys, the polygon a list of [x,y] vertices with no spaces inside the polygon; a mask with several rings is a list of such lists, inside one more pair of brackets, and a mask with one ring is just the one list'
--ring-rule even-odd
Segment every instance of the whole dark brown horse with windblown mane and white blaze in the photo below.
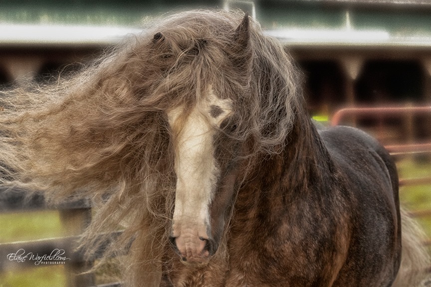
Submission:
{"label": "whole dark brown horse with windblown mane and white blaze", "polygon": [[76,75],[1,92],[1,182],[91,199],[81,244],[109,239],[126,286],[419,284],[394,161],[316,125],[302,83],[247,14],[176,13]]}

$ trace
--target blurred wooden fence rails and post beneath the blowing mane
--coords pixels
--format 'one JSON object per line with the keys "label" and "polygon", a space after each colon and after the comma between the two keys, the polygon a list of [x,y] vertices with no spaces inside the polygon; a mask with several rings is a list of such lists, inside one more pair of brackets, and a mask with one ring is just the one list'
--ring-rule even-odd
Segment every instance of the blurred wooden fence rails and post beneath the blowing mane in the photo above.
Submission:
{"label": "blurred wooden fence rails and post beneath the blowing mane", "polygon": [[[60,238],[48,238],[24,242],[0,243],[0,277],[1,273],[9,270],[24,268],[37,268],[50,264],[64,264],[67,273],[68,287],[92,287],[95,286],[95,276],[85,273],[93,266],[94,258],[85,259],[84,252],[79,250],[77,242],[79,234],[91,221],[91,206],[88,201],[80,200],[57,206],[48,206],[40,195],[27,197],[21,190],[8,190],[0,187],[0,213],[18,213],[55,209],[59,211],[61,224],[67,230],[67,236]],[[1,224],[1,223],[0,223]],[[119,233],[112,236],[118,236]],[[1,236],[1,235],[0,235]],[[108,244],[105,243],[101,250]],[[25,253],[24,253],[25,252]],[[31,258],[19,260],[31,252]],[[40,258],[36,257],[39,256]],[[45,258],[42,258],[46,255]],[[119,287],[119,283],[99,285],[100,287]]]}

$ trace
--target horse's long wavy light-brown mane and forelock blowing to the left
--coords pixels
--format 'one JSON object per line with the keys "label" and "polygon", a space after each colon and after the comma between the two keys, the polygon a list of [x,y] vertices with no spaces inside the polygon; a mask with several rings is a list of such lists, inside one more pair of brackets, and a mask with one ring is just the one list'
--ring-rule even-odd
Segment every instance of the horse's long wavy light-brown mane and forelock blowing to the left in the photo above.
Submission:
{"label": "horse's long wavy light-brown mane and forelock blowing to the left", "polygon": [[96,214],[82,238],[89,254],[124,230],[105,258],[128,252],[130,285],[157,285],[175,191],[166,112],[182,105],[187,113],[211,85],[232,100],[229,137],[252,162],[282,150],[302,109],[289,56],[254,21],[250,39],[241,39],[242,17],[174,14],[73,77],[1,92],[2,184],[51,202],[90,198]]}

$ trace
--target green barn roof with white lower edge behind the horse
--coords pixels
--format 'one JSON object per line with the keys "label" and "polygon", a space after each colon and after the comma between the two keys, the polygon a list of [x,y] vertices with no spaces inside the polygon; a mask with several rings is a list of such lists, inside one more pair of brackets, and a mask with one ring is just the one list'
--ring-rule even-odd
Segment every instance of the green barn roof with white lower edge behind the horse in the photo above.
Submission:
{"label": "green barn roof with white lower edge behind the horse", "polygon": [[291,46],[431,48],[431,0],[0,1],[0,45],[107,45],[176,8],[252,9]]}

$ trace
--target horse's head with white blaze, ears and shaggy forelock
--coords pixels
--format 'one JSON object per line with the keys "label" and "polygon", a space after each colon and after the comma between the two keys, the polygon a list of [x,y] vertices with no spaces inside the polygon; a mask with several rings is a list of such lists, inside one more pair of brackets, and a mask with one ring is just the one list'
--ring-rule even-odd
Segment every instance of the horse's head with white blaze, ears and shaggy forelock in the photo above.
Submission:
{"label": "horse's head with white blaze, ears and shaggy forelock", "polygon": [[248,15],[242,21],[227,12],[180,15],[147,43],[149,78],[136,83],[138,93],[152,95],[145,107],[164,113],[170,134],[176,177],[170,241],[183,262],[205,264],[226,238],[252,162],[285,142],[296,74],[282,46]]}

